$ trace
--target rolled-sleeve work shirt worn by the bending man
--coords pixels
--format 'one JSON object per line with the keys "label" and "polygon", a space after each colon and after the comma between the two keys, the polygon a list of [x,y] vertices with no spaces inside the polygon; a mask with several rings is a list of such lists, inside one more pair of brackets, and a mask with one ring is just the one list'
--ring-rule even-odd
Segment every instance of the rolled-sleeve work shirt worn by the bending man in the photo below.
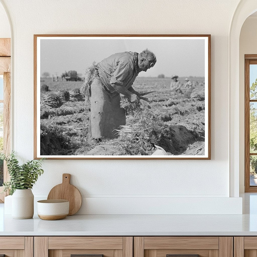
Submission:
{"label": "rolled-sleeve work shirt worn by the bending man", "polygon": [[103,59],[98,63],[98,72],[104,86],[110,92],[115,91],[114,84],[130,88],[138,75],[134,56],[130,52],[115,53]]}

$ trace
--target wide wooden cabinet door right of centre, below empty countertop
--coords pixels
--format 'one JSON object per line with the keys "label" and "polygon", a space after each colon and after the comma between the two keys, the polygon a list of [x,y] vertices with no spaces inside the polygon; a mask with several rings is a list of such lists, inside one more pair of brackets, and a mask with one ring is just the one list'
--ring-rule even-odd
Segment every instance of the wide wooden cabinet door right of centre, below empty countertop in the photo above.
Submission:
{"label": "wide wooden cabinet door right of centre, below empty countertop", "polygon": [[233,257],[233,237],[134,237],[134,257]]}

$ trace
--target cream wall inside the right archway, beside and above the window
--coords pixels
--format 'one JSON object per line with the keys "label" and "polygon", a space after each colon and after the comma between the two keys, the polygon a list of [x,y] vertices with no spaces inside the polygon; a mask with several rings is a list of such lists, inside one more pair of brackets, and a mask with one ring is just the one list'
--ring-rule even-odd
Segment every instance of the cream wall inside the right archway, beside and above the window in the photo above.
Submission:
{"label": "cream wall inside the right archway, beside and above the window", "polygon": [[240,192],[244,192],[244,55],[257,54],[257,16],[248,17],[240,33],[240,82],[239,82],[239,124],[240,124],[240,148],[239,148],[239,177]]}

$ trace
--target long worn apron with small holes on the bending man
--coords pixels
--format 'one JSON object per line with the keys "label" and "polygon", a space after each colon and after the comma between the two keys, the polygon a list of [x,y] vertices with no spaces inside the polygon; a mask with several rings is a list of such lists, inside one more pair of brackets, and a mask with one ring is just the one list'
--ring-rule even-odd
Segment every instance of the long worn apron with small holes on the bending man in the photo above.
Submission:
{"label": "long worn apron with small holes on the bending man", "polygon": [[126,125],[125,110],[120,107],[120,94],[107,91],[99,78],[94,79],[90,91],[88,141],[117,138],[117,131],[114,130]]}

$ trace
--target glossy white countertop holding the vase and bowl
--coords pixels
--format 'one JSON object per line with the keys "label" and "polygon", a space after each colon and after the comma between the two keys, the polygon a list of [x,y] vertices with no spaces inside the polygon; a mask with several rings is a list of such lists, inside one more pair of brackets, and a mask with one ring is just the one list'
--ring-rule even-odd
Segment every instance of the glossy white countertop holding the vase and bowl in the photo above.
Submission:
{"label": "glossy white countertop holding the vase and bowl", "polygon": [[74,215],[59,221],[3,215],[0,236],[257,236],[257,194],[244,194],[243,215]]}

